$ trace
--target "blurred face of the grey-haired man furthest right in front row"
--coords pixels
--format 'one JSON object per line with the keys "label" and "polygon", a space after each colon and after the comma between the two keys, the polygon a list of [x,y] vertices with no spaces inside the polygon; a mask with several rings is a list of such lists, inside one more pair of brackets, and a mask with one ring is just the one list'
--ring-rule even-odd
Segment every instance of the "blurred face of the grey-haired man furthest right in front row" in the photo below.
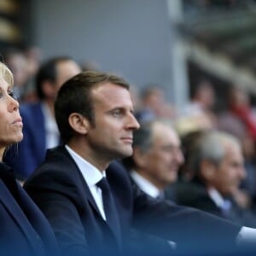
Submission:
{"label": "blurred face of the grey-haired man furthest right in front row", "polygon": [[238,189],[245,176],[241,149],[235,145],[226,144],[224,159],[215,166],[212,186],[221,195],[231,195]]}

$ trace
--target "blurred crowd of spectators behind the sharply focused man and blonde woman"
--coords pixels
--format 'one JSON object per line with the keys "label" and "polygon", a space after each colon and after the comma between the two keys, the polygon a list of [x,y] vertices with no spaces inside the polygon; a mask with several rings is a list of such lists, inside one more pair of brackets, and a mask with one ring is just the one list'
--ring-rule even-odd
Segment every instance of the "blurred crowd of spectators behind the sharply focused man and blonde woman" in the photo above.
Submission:
{"label": "blurred crowd of spectators behind the sharply focused man and blonde woman", "polygon": [[[94,62],[78,63],[70,56],[42,60],[41,50],[34,46],[3,53],[3,62],[14,73],[24,124],[24,140],[9,148],[4,160],[14,167],[20,183],[43,162],[47,148],[61,143],[53,109],[61,84],[81,71],[100,69]],[[255,228],[256,109],[250,94],[232,84],[224,88],[225,106],[219,110],[211,79],[197,81],[181,109],[172,105],[159,84],[131,85],[139,131],[151,130],[154,139],[148,146],[152,151],[135,150],[132,160],[120,164],[153,197],[164,196]],[[144,146],[135,131],[134,148]]]}

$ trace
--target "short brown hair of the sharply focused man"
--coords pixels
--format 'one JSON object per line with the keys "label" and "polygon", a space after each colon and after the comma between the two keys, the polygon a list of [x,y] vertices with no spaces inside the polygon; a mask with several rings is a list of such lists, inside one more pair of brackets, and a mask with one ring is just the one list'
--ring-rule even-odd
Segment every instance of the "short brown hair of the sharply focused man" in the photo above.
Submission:
{"label": "short brown hair of the sharply focused man", "polygon": [[67,80],[58,92],[55,100],[55,119],[61,133],[63,143],[69,142],[74,135],[73,128],[68,123],[71,113],[80,113],[95,125],[91,90],[100,84],[117,84],[129,90],[125,79],[111,73],[86,71]]}

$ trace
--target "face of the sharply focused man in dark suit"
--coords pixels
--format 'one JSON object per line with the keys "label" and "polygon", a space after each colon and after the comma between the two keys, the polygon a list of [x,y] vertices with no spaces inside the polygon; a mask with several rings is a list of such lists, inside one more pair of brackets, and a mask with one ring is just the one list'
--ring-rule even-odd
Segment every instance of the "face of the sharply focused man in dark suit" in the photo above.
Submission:
{"label": "face of the sharply focused man in dark suit", "polygon": [[139,125],[133,115],[129,90],[111,83],[91,91],[95,125],[90,125],[87,142],[96,161],[109,161],[132,154],[133,131]]}

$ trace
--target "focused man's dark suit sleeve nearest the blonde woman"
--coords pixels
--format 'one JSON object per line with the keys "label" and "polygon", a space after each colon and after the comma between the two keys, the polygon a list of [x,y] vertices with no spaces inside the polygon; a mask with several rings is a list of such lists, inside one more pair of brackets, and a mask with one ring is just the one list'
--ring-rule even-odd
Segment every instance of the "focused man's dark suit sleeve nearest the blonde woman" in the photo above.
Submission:
{"label": "focused man's dark suit sleeve nearest the blonde woman", "polygon": [[45,173],[34,177],[32,183],[26,183],[25,189],[48,218],[61,248],[61,255],[90,255],[78,207],[73,201],[75,196],[69,194],[75,194],[76,188],[68,178],[63,173],[62,177]]}

